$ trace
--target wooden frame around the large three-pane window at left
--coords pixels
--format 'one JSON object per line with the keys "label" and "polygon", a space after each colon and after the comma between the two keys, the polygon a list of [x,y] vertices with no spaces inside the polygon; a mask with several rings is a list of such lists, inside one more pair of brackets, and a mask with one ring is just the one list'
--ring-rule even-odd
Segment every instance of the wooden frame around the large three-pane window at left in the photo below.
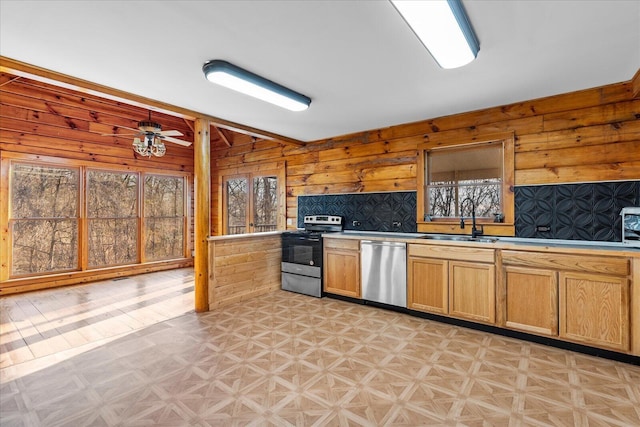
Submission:
{"label": "wooden frame around the large three-pane window at left", "polygon": [[[39,156],[25,153],[13,153],[13,152],[3,152],[0,154],[0,177],[2,178],[2,182],[0,184],[0,222],[3,224],[9,224],[10,220],[10,209],[11,203],[9,200],[9,196],[11,193],[11,170],[13,164],[33,164],[40,165],[43,167],[65,167],[65,168],[77,168],[79,170],[79,190],[78,190],[78,198],[79,198],[79,224],[78,224],[78,266],[73,270],[56,270],[52,272],[46,273],[34,273],[28,275],[13,275],[12,270],[12,233],[9,227],[2,227],[1,237],[0,239],[0,249],[2,252],[6,254],[6,257],[3,256],[3,262],[0,266],[0,282],[5,281],[14,281],[14,280],[22,280],[29,279],[34,280],[38,278],[47,278],[52,276],[58,276],[60,274],[70,275],[70,274],[81,274],[81,273],[92,273],[92,272],[100,272],[100,271],[111,271],[117,268],[131,268],[135,266],[142,265],[150,265],[155,263],[167,263],[167,262],[177,262],[184,261],[190,258],[189,247],[190,247],[190,239],[191,239],[191,185],[192,184],[192,174],[189,172],[176,171],[176,170],[165,170],[165,169],[156,169],[153,167],[139,167],[139,166],[128,166],[128,165],[119,165],[119,164],[104,164],[98,162],[89,162],[84,160],[73,160],[73,159],[65,159],[59,157],[50,157],[50,156]],[[137,223],[138,223],[138,236],[137,236],[137,245],[138,245],[138,257],[135,263],[133,264],[122,264],[122,265],[109,265],[109,266],[101,266],[101,267],[89,267],[88,266],[88,219],[87,219],[87,176],[88,170],[98,170],[98,171],[107,171],[107,172],[115,172],[115,173],[131,173],[138,175],[138,185],[137,185],[137,197],[138,197],[138,209],[137,209]],[[161,261],[145,261],[144,259],[144,249],[145,242],[144,236],[142,235],[143,230],[143,220],[144,220],[144,179],[146,175],[157,175],[157,176],[170,176],[170,177],[179,177],[183,180],[184,185],[184,197],[183,197],[183,206],[184,206],[184,221],[183,221],[183,253],[181,258],[172,258]]]}

